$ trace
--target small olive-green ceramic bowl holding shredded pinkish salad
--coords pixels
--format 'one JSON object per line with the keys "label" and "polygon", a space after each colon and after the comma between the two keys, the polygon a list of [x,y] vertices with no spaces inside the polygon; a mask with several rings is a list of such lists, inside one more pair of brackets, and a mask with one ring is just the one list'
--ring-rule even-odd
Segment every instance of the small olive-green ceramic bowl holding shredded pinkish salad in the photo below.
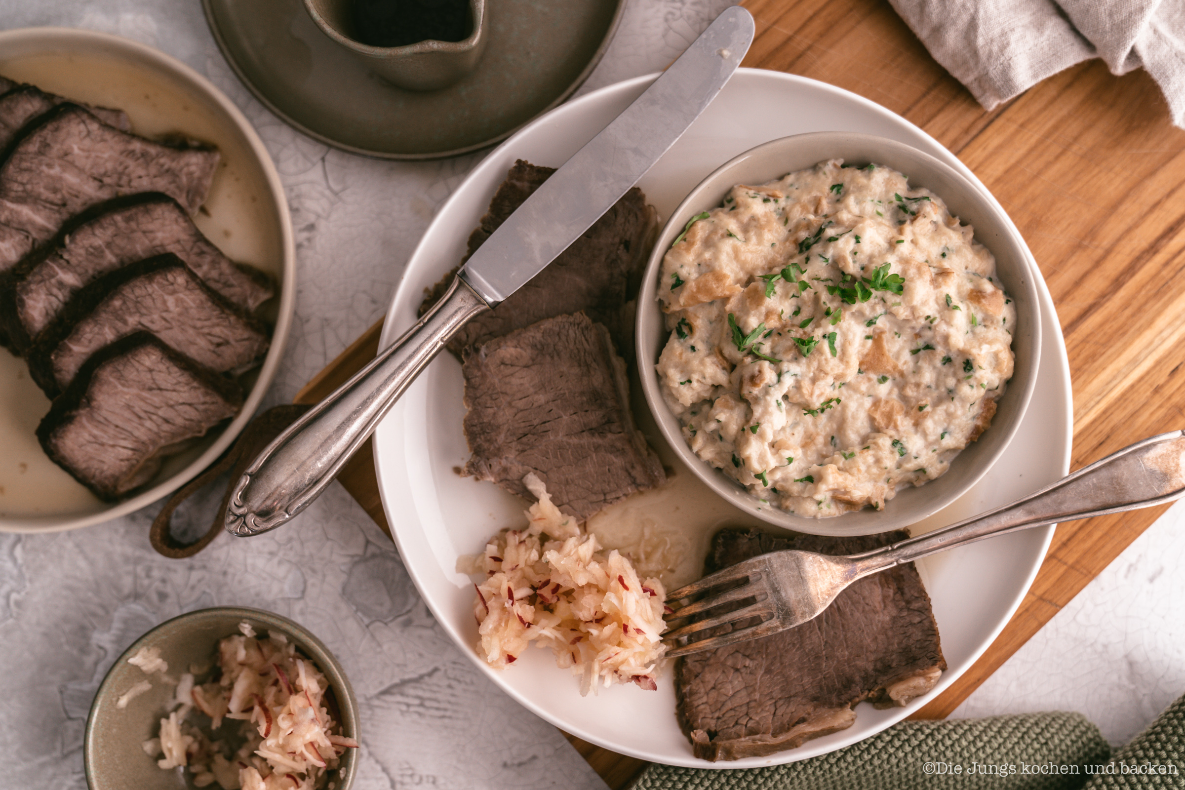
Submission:
{"label": "small olive-green ceramic bowl holding shredded pinkish salad", "polygon": [[[338,660],[319,638],[287,617],[268,611],[242,606],[201,609],[174,617],[141,636],[107,673],[87,718],[83,763],[90,790],[180,790],[193,786],[181,769],[162,771],[156,766],[156,759],[148,757],[141,746],[158,734],[174,687],[160,682],[160,675],[146,676],[139,667],[129,664],[128,659],[140,648],[159,648],[160,657],[168,662],[168,674],[175,677],[188,672],[190,664],[212,662],[218,641],[238,634],[238,624],[243,621],[260,634],[283,634],[297,650],[313,660],[329,681],[325,701],[334,720],[340,722],[341,734],[358,738],[354,692]],[[152,691],[133,698],[123,709],[115,707],[123,693],[146,677],[153,683]],[[357,753],[357,749],[347,749],[337,771],[331,772],[335,790],[350,790],[353,784]],[[217,789],[218,784],[210,786]]]}

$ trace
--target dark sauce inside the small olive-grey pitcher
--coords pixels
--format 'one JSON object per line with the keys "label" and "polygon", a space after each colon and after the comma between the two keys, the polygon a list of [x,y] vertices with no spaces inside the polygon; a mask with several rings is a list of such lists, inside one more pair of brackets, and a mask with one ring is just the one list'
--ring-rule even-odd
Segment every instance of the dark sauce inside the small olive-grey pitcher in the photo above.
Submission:
{"label": "dark sauce inside the small olive-grey pitcher", "polygon": [[354,38],[371,46],[463,41],[473,33],[467,0],[353,0],[353,23]]}

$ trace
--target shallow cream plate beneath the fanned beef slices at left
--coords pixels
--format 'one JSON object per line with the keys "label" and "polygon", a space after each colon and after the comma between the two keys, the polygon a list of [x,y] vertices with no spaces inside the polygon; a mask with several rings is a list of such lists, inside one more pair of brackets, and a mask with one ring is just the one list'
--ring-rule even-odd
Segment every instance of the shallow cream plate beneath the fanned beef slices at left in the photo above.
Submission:
{"label": "shallow cream plate beneath the fanned beef slices at left", "polygon": [[283,355],[295,304],[295,249],[283,186],[267,149],[222,91],[143,44],[83,30],[0,33],[0,75],[76,101],[124,110],[146,136],[181,133],[222,153],[198,227],[232,259],[276,277],[271,348],[243,410],[224,430],[168,458],[152,488],[116,505],[100,501],[41,451],[33,431],[50,402],[25,362],[0,349],[0,532],[51,532],[100,524],[180,488],[235,441],[258,407]]}

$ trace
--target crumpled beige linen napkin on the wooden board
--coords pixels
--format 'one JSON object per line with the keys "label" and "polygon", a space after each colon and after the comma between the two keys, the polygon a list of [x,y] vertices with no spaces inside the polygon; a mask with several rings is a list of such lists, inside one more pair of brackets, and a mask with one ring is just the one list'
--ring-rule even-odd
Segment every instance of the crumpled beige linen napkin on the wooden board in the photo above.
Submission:
{"label": "crumpled beige linen napkin on the wooden board", "polygon": [[1185,127],[1185,0],[890,0],[987,109],[1090,58],[1145,69]]}

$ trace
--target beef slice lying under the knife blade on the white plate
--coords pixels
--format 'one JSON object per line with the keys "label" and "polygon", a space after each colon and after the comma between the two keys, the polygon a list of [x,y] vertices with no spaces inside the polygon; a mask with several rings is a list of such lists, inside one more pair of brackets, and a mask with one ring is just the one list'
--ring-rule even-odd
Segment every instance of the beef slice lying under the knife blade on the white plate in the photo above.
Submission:
{"label": "beef slice lying under the knife blade on the white plate", "polygon": [[[470,233],[469,255],[555,172],[552,167],[515,162],[491,200],[489,212]],[[641,283],[656,226],[654,208],[646,205],[646,195],[634,187],[546,269],[493,310],[469,321],[449,342],[449,351],[460,355],[467,346],[481,345],[542,319],[583,310],[607,326],[617,347],[630,354],[632,300]],[[441,297],[454,274],[449,272],[429,294],[421,313]]]}

